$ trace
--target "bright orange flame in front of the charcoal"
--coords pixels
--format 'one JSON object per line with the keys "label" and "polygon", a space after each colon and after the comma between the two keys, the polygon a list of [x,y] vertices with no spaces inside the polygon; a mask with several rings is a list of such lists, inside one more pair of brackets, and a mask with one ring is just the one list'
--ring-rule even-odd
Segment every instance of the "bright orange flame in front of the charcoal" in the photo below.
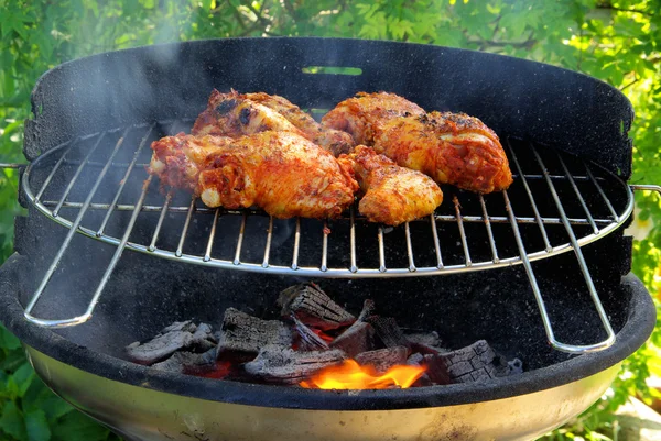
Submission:
{"label": "bright orange flame in front of the charcoal", "polygon": [[397,365],[379,375],[372,366],[361,366],[355,360],[326,367],[301,386],[313,389],[387,389],[410,387],[424,374],[424,366]]}

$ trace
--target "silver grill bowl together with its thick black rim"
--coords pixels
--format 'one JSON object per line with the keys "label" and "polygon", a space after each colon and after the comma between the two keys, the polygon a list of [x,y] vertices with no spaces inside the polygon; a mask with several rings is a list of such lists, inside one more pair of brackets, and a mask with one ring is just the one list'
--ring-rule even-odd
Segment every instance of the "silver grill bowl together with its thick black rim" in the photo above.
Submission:
{"label": "silver grill bowl together with its thick black rim", "polygon": [[[129,440],[534,439],[598,399],[655,320],[647,290],[627,276],[607,305],[621,308],[625,319],[607,350],[564,361],[566,355],[556,356],[545,367],[486,384],[311,390],[159,372],[104,353],[112,352],[107,340],[86,344],[89,335],[117,334],[116,327],[98,323],[122,320],[121,310],[67,332],[31,324],[17,298],[29,268],[18,255],[0,268],[0,320],[22,340],[35,371],[55,393]],[[171,317],[178,316],[172,311]]]}

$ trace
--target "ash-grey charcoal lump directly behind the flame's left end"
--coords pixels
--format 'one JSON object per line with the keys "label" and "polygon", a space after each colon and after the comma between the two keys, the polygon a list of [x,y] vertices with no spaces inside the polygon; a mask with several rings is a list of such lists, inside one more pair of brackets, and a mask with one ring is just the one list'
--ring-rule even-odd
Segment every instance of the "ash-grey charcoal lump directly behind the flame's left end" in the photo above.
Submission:
{"label": "ash-grey charcoal lump directly behind the flame's left end", "polygon": [[297,352],[268,345],[243,365],[247,373],[270,383],[297,384],[318,371],[342,363],[346,354],[339,350]]}

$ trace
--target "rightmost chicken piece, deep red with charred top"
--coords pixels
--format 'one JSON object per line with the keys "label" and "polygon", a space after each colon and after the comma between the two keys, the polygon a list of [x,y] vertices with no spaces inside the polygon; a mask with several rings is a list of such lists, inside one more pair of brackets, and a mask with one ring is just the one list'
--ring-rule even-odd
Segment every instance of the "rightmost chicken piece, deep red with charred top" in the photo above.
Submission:
{"label": "rightmost chicken piece, deep red with charred top", "polygon": [[465,113],[431,112],[390,120],[375,137],[375,151],[420,170],[440,184],[487,194],[512,183],[494,131]]}

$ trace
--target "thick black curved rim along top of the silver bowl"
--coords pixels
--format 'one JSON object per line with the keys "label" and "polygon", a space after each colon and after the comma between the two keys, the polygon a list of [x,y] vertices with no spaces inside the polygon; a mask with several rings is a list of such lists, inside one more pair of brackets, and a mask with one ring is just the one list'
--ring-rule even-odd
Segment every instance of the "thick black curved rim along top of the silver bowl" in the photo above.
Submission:
{"label": "thick black curved rim along top of the silver bowl", "polygon": [[545,390],[602,372],[629,356],[654,329],[655,308],[647,289],[633,274],[622,277],[621,289],[630,294],[629,315],[616,343],[600,352],[586,353],[521,375],[487,384],[415,387],[405,390],[327,390],[257,385],[161,372],[91,351],[69,342],[47,328],[23,319],[18,301],[18,272],[28,257],[13,254],[0,267],[0,321],[24,345],[73,367],[133,386],[194,398],[261,407],[312,410],[388,410],[452,406]]}

